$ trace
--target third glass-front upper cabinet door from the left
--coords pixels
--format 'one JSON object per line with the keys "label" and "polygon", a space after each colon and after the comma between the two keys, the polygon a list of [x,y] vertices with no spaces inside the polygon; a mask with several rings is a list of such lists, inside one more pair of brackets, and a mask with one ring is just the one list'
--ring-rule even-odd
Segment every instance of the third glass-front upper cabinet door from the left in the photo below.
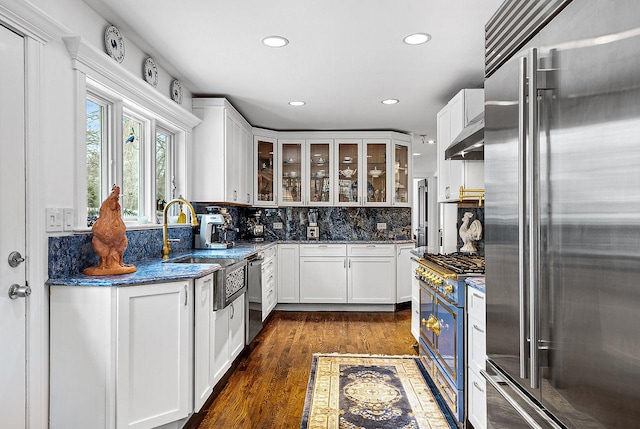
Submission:
{"label": "third glass-front upper cabinet door from the left", "polygon": [[330,140],[307,140],[308,204],[332,205],[331,168],[333,167]]}

